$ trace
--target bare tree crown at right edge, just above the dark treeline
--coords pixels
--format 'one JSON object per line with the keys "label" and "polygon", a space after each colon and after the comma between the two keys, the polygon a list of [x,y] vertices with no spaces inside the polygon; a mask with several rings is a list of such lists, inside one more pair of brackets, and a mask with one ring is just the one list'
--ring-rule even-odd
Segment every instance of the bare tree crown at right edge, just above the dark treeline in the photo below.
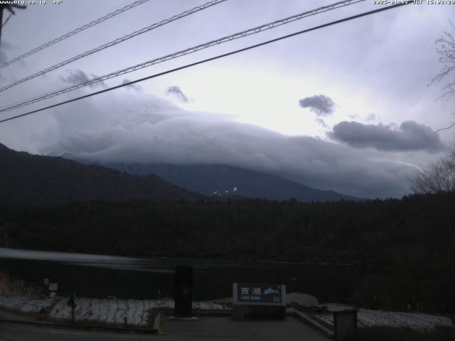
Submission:
{"label": "bare tree crown at right edge, just above the dark treeline", "polygon": [[437,193],[455,190],[455,146],[449,155],[414,171],[412,190],[417,193]]}

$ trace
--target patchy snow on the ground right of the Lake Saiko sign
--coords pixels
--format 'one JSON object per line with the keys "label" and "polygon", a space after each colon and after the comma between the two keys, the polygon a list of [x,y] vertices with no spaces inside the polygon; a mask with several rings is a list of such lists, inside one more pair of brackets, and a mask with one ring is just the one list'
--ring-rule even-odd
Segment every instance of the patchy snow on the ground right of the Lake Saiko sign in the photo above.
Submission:
{"label": "patchy snow on the ground right of the Lake Saiko sign", "polygon": [[[327,308],[325,313],[314,313],[314,316],[328,325],[333,326],[333,312],[350,309],[348,305],[336,303],[324,304]],[[382,311],[370,309],[358,309],[357,313],[359,328],[373,326],[407,327],[414,330],[433,329],[435,327],[454,327],[450,318],[440,315],[422,313],[404,313],[397,311]]]}

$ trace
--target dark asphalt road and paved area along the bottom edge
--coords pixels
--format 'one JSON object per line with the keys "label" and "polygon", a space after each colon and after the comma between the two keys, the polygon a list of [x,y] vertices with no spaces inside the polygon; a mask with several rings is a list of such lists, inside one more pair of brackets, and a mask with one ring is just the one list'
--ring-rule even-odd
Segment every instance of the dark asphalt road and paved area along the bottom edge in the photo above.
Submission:
{"label": "dark asphalt road and paved area along the bottom edge", "polygon": [[229,318],[200,318],[197,322],[164,323],[166,335],[144,335],[114,332],[65,330],[16,323],[0,323],[0,341],[243,341],[306,340],[327,341],[316,330],[294,318],[286,321],[233,321]]}

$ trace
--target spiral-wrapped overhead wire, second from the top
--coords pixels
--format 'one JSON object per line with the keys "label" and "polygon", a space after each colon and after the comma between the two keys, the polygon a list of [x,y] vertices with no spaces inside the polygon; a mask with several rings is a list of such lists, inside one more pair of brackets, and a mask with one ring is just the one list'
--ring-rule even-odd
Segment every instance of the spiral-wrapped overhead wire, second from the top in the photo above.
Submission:
{"label": "spiral-wrapped overhead wire, second from the top", "polygon": [[93,53],[100,52],[101,50],[104,50],[105,48],[110,48],[111,46],[117,45],[118,43],[122,43],[125,40],[131,39],[131,38],[134,38],[136,36],[139,36],[140,34],[149,32],[149,31],[153,30],[154,28],[159,28],[160,26],[164,26],[164,25],[166,25],[168,23],[171,23],[172,21],[176,21],[176,20],[184,18],[186,16],[190,16],[191,14],[196,13],[198,11],[203,11],[204,9],[207,9],[208,7],[218,5],[218,4],[220,4],[220,3],[224,2],[224,1],[226,1],[226,0],[209,1],[209,2],[207,2],[207,3],[205,3],[205,4],[201,5],[201,6],[197,6],[197,7],[194,7],[193,9],[188,10],[188,11],[184,11],[182,13],[179,13],[176,16],[172,16],[171,18],[164,19],[163,21],[160,21],[159,23],[154,23],[154,24],[152,24],[150,26],[142,28],[139,31],[134,31],[133,33],[129,33],[129,34],[127,34],[127,36],[123,36],[121,38],[117,38],[115,40],[109,41],[109,43],[105,43],[104,45],[98,46],[97,48],[93,48],[92,50],[88,50],[85,53],[81,53],[80,55],[76,55],[73,58],[64,60],[63,62],[60,62],[58,64],[50,66],[50,67],[48,67],[48,68],[46,68],[44,70],[41,70],[39,72],[36,72],[33,75],[27,76],[25,78],[22,78],[21,80],[13,82],[13,83],[11,83],[9,85],[6,85],[4,87],[1,87],[0,88],[0,92],[2,92],[4,90],[7,90],[10,87],[14,87],[14,86],[16,86],[18,84],[26,82],[27,80],[32,80],[33,78],[36,78],[36,77],[41,76],[41,75],[44,75],[45,73],[48,73],[48,72],[53,71],[55,69],[58,69],[59,67],[62,67],[64,65],[73,63],[75,60],[79,60],[81,58],[87,57],[87,55],[92,55]]}

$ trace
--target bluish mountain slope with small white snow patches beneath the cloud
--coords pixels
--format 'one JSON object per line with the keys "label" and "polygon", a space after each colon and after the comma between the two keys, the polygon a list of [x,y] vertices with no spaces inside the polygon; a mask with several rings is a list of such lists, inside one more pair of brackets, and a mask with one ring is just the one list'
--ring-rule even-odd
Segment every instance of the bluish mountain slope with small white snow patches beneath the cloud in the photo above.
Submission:
{"label": "bluish mountain slope with small white snow patches beneath the cloud", "polygon": [[131,174],[156,174],[188,190],[203,195],[260,197],[269,200],[302,202],[360,200],[333,190],[317,190],[276,175],[230,166],[174,166],[168,164],[109,163],[105,166]]}

